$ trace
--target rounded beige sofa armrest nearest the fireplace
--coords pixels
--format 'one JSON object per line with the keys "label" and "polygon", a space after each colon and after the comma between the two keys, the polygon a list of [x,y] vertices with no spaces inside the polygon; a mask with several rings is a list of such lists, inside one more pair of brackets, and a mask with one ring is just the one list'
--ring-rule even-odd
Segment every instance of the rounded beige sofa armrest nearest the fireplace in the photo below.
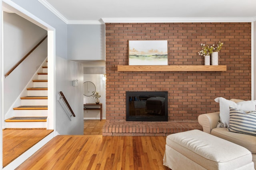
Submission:
{"label": "rounded beige sofa armrest nearest the fireplace", "polygon": [[198,122],[203,127],[203,131],[211,133],[220,120],[220,112],[206,113],[198,116]]}

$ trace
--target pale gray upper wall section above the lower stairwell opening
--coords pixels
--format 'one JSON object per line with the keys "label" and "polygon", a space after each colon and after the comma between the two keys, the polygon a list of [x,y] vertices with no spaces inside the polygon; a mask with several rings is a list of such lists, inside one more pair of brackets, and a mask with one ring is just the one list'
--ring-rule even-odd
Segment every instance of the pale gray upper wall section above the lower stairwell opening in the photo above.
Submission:
{"label": "pale gray upper wall section above the lower stairwell opening", "polygon": [[105,25],[68,25],[69,60],[105,60]]}

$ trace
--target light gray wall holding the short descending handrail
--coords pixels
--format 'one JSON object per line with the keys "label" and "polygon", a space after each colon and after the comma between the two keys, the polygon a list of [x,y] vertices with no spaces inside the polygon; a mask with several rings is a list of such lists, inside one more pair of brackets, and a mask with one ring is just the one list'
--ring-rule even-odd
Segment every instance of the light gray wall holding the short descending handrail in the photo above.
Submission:
{"label": "light gray wall holding the short descending handrail", "polygon": [[[58,63],[58,64],[57,64]],[[76,117],[70,121],[62,107],[56,103],[56,131],[60,135],[84,135],[84,107],[83,107],[83,65],[56,57],[56,86],[57,92],[62,91]],[[73,86],[72,81],[78,80],[78,86]],[[58,99],[57,99],[58,100]]]}

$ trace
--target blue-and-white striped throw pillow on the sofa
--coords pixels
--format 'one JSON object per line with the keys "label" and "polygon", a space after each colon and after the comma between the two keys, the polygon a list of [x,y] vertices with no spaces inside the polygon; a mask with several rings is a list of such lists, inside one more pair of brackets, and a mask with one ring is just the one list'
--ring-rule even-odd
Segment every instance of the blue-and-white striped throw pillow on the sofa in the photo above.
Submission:
{"label": "blue-and-white striped throw pillow on the sofa", "polygon": [[228,131],[256,136],[256,111],[244,112],[235,107],[230,108]]}

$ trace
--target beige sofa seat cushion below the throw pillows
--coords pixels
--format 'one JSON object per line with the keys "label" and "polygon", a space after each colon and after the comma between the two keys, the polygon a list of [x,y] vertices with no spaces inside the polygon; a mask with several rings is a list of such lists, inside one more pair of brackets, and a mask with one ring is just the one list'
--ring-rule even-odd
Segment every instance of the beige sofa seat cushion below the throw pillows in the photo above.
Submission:
{"label": "beige sofa seat cushion below the throw pillows", "polygon": [[227,131],[228,128],[220,127],[214,128],[211,131],[211,134],[230,141],[232,143],[236,143],[246,149],[250,150],[252,153],[256,153],[256,136],[246,135],[242,133],[234,133]]}

